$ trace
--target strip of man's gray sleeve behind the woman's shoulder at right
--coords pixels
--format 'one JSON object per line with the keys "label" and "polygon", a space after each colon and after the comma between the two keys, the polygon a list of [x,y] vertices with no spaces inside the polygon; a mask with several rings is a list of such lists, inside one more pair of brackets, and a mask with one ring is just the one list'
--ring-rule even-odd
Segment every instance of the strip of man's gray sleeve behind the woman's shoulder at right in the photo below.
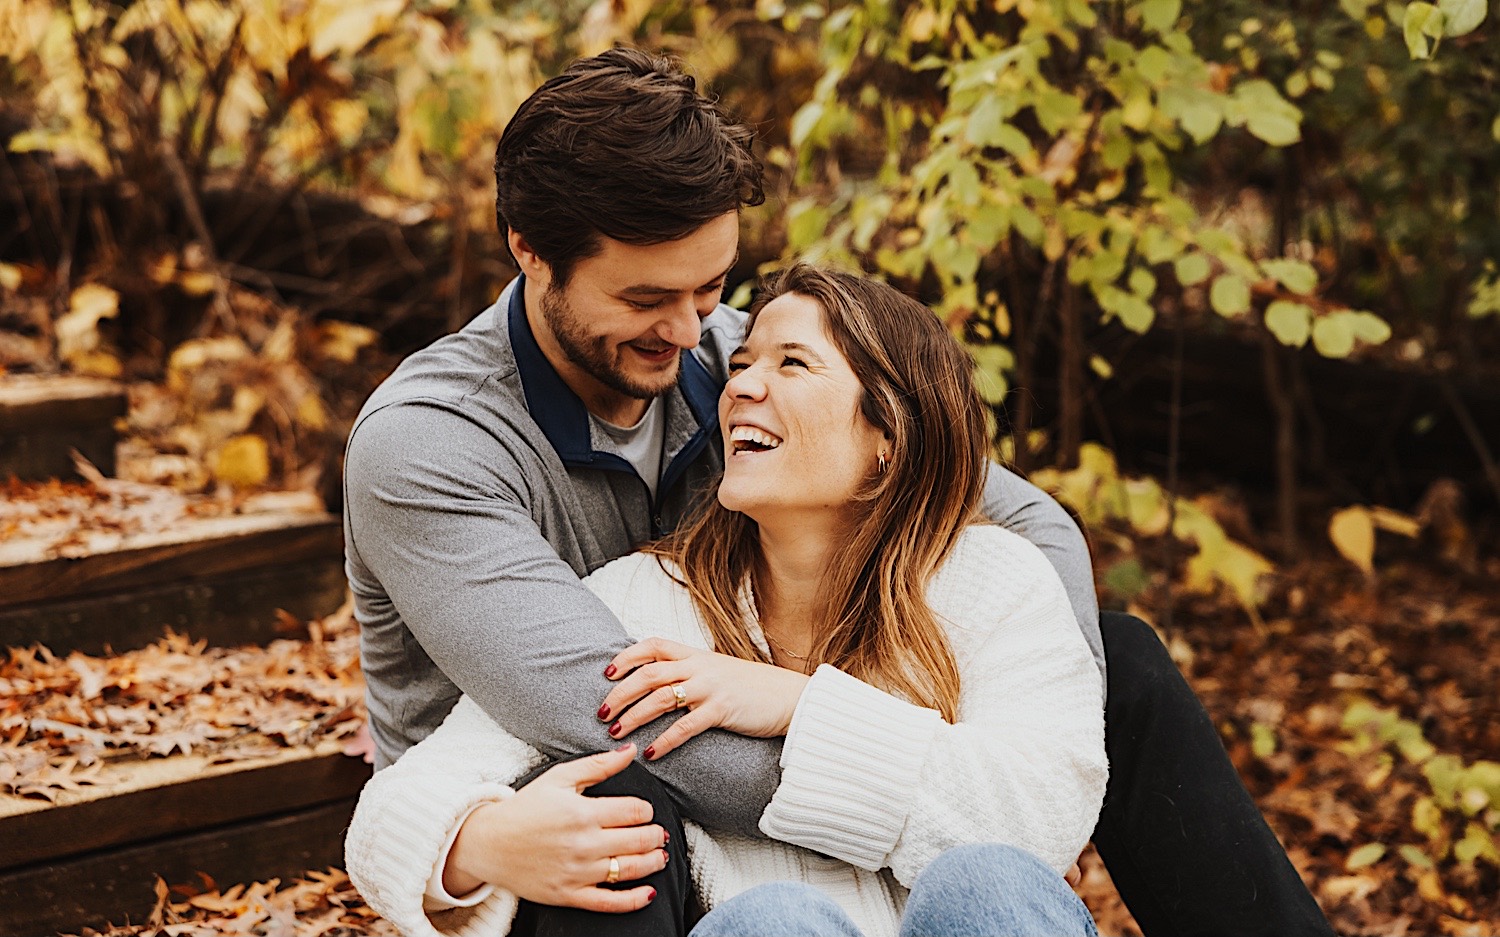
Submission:
{"label": "strip of man's gray sleeve behind the woman's shoulder at right", "polygon": [[1064,588],[1072,613],[1078,618],[1094,663],[1104,676],[1104,639],[1100,636],[1100,600],[1094,594],[1094,565],[1083,532],[1052,495],[1016,472],[990,463],[984,481],[984,513],[994,523],[1020,534],[1041,547]]}

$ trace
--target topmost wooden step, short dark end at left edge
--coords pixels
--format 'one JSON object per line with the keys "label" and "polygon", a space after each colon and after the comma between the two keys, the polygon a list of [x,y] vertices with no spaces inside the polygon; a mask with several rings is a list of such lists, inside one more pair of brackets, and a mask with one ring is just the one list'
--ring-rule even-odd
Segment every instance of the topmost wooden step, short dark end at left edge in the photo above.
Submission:
{"label": "topmost wooden step, short dark end at left edge", "polygon": [[124,388],[78,376],[0,376],[0,481],[75,478],[72,450],[114,474]]}

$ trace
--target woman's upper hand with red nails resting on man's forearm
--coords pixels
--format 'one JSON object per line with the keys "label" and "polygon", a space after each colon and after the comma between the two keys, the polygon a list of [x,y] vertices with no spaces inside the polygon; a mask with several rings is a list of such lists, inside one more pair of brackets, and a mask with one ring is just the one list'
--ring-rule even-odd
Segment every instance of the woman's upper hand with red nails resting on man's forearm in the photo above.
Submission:
{"label": "woman's upper hand with red nails resting on man's forearm", "polygon": [[626,648],[604,676],[620,684],[604,697],[598,718],[615,720],[609,735],[622,739],[651,720],[680,709],[676,693],[688,712],[646,748],[656,760],[705,729],[728,729],[754,738],[786,735],[807,675],[740,660],[726,654],[688,648],[660,637]]}

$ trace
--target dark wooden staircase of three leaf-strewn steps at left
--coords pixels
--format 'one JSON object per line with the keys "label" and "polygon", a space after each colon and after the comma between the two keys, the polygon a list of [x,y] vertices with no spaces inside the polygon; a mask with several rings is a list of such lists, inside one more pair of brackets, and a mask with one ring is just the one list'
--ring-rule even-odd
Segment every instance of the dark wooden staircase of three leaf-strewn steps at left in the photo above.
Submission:
{"label": "dark wooden staircase of three leaf-strewn steps at left", "polygon": [[[288,622],[339,609],[342,537],[327,513],[180,511],[171,523],[62,537],[50,519],[26,517],[32,489],[8,480],[69,480],[48,490],[76,495],[72,451],[112,472],[123,412],[124,394],[108,382],[0,376],[0,646],[98,655],[142,648],[168,627],[216,646],[268,645],[288,637]],[[150,501],[144,486],[117,484]],[[6,705],[10,690],[0,681],[0,742],[33,729],[32,714]],[[10,751],[0,747],[0,784]],[[52,802],[0,793],[0,934],[144,922],[158,876],[226,886],[342,867],[369,771],[342,742],[322,741],[228,763],[110,757]]]}

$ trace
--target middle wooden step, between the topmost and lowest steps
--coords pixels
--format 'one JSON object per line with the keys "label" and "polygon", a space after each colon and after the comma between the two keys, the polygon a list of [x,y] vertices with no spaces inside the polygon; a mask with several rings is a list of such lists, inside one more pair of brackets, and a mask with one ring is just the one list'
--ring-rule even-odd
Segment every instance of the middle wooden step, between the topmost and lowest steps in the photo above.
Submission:
{"label": "middle wooden step, between the topmost and lowest steps", "polygon": [[345,595],[342,529],[327,513],[182,517],[57,544],[56,535],[0,541],[0,646],[118,652],[166,627],[212,645],[260,645],[284,637],[278,609],[308,621]]}

